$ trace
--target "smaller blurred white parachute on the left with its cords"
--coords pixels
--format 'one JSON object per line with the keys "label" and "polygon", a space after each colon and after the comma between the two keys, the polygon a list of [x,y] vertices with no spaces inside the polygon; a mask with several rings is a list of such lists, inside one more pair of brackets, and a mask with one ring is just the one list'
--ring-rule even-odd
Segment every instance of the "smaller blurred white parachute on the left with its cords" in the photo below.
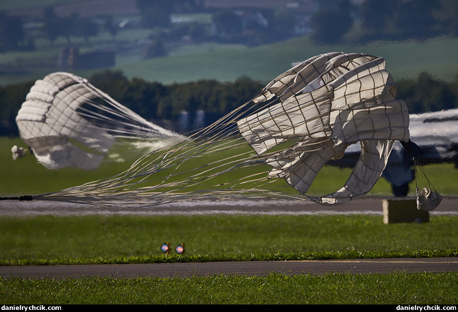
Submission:
{"label": "smaller blurred white parachute on the left with its cords", "polygon": [[47,168],[99,166],[117,138],[170,138],[86,79],[51,73],[37,80],[16,116],[19,135]]}

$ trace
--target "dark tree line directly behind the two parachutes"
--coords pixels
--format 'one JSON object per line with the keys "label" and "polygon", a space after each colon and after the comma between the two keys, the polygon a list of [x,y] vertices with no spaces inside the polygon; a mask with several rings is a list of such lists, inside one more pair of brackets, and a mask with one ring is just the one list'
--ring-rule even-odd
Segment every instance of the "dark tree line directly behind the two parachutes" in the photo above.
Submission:
{"label": "dark tree line directly behind the two parachutes", "polygon": [[[166,86],[139,78],[127,79],[118,70],[103,70],[88,80],[140,116],[175,131],[181,112],[188,112],[192,121],[192,116],[202,110],[205,125],[209,125],[252,99],[265,85],[240,77],[227,83],[208,79]],[[18,135],[15,118],[33,83],[0,86],[0,135]],[[411,114],[458,107],[458,75],[455,81],[447,83],[421,73],[417,79],[397,81],[397,86],[397,97],[405,100]]]}

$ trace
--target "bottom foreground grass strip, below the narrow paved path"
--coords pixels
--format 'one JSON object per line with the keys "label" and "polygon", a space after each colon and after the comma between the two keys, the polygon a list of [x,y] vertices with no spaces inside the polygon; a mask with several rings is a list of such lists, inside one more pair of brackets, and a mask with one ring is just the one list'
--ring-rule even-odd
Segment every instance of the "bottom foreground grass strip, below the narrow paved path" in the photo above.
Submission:
{"label": "bottom foreground grass strip, below the narrow paved path", "polygon": [[0,279],[2,304],[456,304],[458,273]]}

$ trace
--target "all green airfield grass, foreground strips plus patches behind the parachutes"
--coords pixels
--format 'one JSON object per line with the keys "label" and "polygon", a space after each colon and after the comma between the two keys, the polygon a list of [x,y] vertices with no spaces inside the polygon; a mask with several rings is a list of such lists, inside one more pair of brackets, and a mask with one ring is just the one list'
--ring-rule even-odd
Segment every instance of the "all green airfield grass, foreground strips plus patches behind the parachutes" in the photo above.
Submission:
{"label": "all green airfield grass, foreground strips plus patches behind the parachutes", "polygon": [[[94,171],[47,170],[32,155],[14,161],[18,138],[0,138],[0,196],[42,194],[110,177],[141,151],[123,150]],[[25,146],[24,146],[25,147]],[[442,194],[455,195],[451,164],[427,166]],[[311,192],[340,187],[349,169],[326,167]],[[388,195],[381,179],[371,194]],[[456,257],[457,216],[383,224],[382,216],[0,216],[0,265],[292,261]],[[164,256],[160,245],[186,244]],[[0,279],[4,304],[454,304],[458,274],[300,274],[192,278]],[[186,291],[183,291],[183,287]]]}

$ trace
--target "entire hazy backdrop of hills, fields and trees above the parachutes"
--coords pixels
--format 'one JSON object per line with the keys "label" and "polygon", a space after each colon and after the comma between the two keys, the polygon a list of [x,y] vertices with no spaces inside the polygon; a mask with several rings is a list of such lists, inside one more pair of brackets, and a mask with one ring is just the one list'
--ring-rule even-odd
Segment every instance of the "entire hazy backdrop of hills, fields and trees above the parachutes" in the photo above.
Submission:
{"label": "entire hazy backdrop of hills, fields and trees above the parachutes", "polygon": [[0,11],[0,135],[17,134],[31,83],[54,71],[177,130],[183,110],[212,122],[330,51],[384,57],[410,112],[457,107],[453,0],[16,0]]}

